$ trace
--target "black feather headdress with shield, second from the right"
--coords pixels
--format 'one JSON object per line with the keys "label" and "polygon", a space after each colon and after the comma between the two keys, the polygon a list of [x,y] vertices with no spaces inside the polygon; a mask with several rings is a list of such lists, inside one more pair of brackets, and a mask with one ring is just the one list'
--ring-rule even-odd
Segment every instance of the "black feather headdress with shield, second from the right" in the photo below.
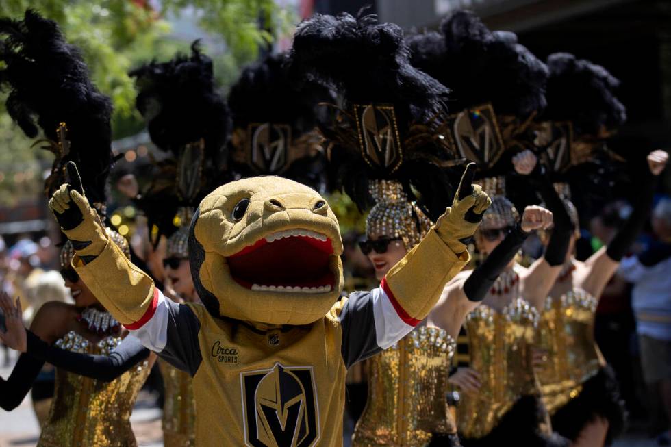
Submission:
{"label": "black feather headdress with shield, second from the right", "polygon": [[514,33],[490,31],[467,11],[407,42],[412,64],[452,90],[450,135],[461,156],[478,163],[480,177],[505,173],[503,152],[533,145],[532,120],[546,106],[545,64]]}

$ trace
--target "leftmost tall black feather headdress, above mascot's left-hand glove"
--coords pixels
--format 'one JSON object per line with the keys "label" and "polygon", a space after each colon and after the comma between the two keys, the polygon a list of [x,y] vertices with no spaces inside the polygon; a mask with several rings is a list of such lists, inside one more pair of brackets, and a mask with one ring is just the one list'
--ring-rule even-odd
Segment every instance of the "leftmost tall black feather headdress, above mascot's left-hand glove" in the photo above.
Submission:
{"label": "leftmost tall black feather headdress, above mascot's left-hand glove", "polygon": [[27,10],[23,20],[0,19],[0,88],[12,119],[30,138],[40,134],[56,159],[45,182],[47,196],[66,181],[64,166],[79,168],[91,203],[105,203],[112,155],[112,102],[88,77],[79,50],[58,25]]}

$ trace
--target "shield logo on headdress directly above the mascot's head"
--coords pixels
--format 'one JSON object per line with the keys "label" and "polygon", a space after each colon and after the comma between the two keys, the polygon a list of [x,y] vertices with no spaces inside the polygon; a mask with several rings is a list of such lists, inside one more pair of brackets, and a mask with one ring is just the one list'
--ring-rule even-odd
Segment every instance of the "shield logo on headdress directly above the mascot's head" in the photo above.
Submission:
{"label": "shield logo on headdress directly above the mascot's head", "polygon": [[247,127],[249,165],[257,172],[279,174],[289,165],[291,127],[276,123],[253,123]]}

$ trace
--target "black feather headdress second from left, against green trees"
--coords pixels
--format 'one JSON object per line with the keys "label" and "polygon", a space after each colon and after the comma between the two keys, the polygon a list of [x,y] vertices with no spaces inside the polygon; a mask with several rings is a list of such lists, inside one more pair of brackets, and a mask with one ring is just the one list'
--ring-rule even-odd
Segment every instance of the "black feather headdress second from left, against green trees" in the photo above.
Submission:
{"label": "black feather headdress second from left, against green trees", "polygon": [[138,199],[149,226],[157,227],[153,240],[158,242],[188,225],[203,196],[229,180],[230,112],[217,91],[212,60],[198,41],[188,56],[152,61],[129,75],[136,78],[136,107],[147,120],[151,141],[168,154],[155,162],[157,173]]}

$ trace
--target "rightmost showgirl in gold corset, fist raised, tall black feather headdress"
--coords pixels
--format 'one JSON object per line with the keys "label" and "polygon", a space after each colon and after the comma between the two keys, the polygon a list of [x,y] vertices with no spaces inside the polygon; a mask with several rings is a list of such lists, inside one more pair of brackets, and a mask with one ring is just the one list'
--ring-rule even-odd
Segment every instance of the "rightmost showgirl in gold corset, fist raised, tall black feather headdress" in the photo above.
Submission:
{"label": "rightmost showgirl in gold corset, fist raised, tall black feather headdress", "polygon": [[[561,175],[570,176],[566,171],[571,166],[594,156],[624,122],[625,110],[613,94],[619,82],[605,68],[568,53],[550,55],[548,68],[543,119],[550,121],[546,123],[550,138],[546,138],[549,150],[542,156],[559,180]],[[553,428],[576,445],[609,444],[624,424],[618,384],[594,341],[594,312],[620,259],[648,219],[656,179],[667,158],[663,151],[648,155],[652,175],[637,177],[640,194],[631,216],[615,238],[585,262],[573,257],[579,227],[570,189],[566,183],[557,185],[564,191],[574,231],[562,272],[542,307],[540,348],[547,361],[538,372]]]}

